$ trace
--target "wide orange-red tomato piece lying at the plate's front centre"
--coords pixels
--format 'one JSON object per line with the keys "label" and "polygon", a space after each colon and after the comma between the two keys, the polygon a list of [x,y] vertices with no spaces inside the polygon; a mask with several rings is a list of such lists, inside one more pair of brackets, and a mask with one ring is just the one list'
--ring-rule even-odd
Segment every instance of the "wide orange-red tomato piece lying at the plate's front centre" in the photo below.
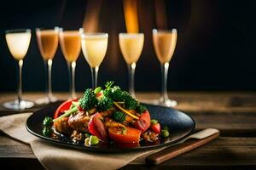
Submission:
{"label": "wide orange-red tomato piece lying at the plate's front centre", "polygon": [[120,127],[108,128],[108,135],[116,143],[139,143],[142,131],[133,127],[126,127],[125,133]]}

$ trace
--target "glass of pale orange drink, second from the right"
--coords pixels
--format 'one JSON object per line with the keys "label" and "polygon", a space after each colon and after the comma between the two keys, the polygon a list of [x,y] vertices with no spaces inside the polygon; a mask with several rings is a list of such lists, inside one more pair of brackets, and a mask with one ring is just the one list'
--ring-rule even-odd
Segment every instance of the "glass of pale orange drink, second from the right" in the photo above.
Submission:
{"label": "glass of pale orange drink, second from the right", "polygon": [[119,33],[119,46],[129,71],[129,93],[135,97],[134,73],[136,63],[143,51],[143,33]]}

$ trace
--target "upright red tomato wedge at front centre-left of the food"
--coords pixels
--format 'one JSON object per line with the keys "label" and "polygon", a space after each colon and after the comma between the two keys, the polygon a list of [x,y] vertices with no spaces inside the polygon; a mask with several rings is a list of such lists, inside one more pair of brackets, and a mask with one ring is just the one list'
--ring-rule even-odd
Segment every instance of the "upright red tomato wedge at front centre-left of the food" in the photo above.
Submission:
{"label": "upright red tomato wedge at front centre-left of the food", "polygon": [[106,140],[108,139],[108,133],[102,122],[102,115],[99,113],[94,114],[88,123],[88,130],[91,134],[95,135],[99,139]]}

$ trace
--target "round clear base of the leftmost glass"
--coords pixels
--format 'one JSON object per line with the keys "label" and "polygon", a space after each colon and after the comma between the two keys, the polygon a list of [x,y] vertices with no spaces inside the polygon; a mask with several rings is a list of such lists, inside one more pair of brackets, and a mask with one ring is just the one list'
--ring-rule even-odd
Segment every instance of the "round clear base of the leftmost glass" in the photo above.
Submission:
{"label": "round clear base of the leftmost glass", "polygon": [[11,110],[24,110],[29,109],[34,106],[34,103],[32,101],[26,101],[26,100],[18,100],[15,101],[9,101],[6,103],[3,103],[3,107]]}

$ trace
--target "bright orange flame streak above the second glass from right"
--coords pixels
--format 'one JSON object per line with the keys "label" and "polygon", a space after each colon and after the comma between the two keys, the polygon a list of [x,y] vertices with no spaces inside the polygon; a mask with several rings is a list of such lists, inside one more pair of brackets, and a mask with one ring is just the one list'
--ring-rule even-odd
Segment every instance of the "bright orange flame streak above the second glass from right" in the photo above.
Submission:
{"label": "bright orange flame streak above the second glass from right", "polygon": [[137,0],[124,0],[125,26],[128,33],[138,33]]}

